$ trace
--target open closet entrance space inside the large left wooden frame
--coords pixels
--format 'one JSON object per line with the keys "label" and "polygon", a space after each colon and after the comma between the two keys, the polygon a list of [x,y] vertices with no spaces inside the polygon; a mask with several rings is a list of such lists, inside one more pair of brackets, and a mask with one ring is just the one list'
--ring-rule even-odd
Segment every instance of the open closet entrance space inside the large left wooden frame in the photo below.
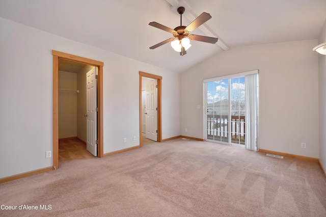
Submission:
{"label": "open closet entrance space inside the large left wooden frame", "polygon": [[[88,75],[96,70],[91,65],[59,59],[59,161],[97,156],[97,147],[91,143],[97,140],[96,131],[94,135],[89,133],[92,114],[88,117],[91,99],[87,88]],[[97,98],[96,92],[93,95]],[[97,106],[97,102],[92,106]],[[97,128],[96,122],[93,128]]]}

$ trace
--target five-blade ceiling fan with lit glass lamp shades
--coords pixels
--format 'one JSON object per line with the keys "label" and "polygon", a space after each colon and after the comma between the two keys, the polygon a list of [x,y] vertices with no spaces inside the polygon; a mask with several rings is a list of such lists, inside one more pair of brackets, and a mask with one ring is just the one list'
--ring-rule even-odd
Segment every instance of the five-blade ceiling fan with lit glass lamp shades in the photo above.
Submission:
{"label": "five-blade ceiling fan with lit glass lamp shades", "polygon": [[190,40],[202,41],[211,44],[215,44],[216,42],[218,42],[219,40],[218,38],[199,36],[199,35],[189,35],[190,32],[194,31],[198,26],[200,26],[201,24],[209,20],[211,18],[210,14],[203,12],[188,26],[184,26],[182,25],[182,14],[185,11],[185,9],[184,7],[179,7],[177,11],[180,14],[180,26],[177,26],[174,30],[168,28],[165,25],[159,24],[157,22],[148,23],[149,25],[154,26],[155,28],[172,33],[174,36],[174,38],[169,38],[165,41],[162,41],[158,44],[151,46],[150,49],[155,49],[171,41],[171,46],[173,47],[173,49],[177,52],[180,52],[180,56],[183,56],[187,53],[186,50],[190,46],[192,46],[190,44]]}

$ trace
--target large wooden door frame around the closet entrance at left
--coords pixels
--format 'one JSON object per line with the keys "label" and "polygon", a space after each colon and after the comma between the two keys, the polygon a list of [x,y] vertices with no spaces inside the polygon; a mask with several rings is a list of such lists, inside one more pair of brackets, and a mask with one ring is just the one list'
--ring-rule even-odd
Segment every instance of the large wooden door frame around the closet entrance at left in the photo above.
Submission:
{"label": "large wooden door frame around the closet entrance at left", "polygon": [[59,168],[59,59],[83,63],[98,68],[97,76],[97,152],[103,157],[103,66],[104,63],[52,50],[53,56],[53,169]]}

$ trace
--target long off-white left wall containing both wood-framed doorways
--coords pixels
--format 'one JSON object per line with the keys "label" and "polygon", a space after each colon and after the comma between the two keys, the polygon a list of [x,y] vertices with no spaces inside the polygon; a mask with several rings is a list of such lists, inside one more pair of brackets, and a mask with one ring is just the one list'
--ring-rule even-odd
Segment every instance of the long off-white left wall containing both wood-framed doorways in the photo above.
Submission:
{"label": "long off-white left wall containing both wood-framed doorways", "polygon": [[180,134],[179,74],[4,18],[0,29],[0,72],[14,72],[0,79],[0,178],[53,165],[52,49],[104,63],[104,153],[140,144],[139,71],[163,77],[162,139]]}

